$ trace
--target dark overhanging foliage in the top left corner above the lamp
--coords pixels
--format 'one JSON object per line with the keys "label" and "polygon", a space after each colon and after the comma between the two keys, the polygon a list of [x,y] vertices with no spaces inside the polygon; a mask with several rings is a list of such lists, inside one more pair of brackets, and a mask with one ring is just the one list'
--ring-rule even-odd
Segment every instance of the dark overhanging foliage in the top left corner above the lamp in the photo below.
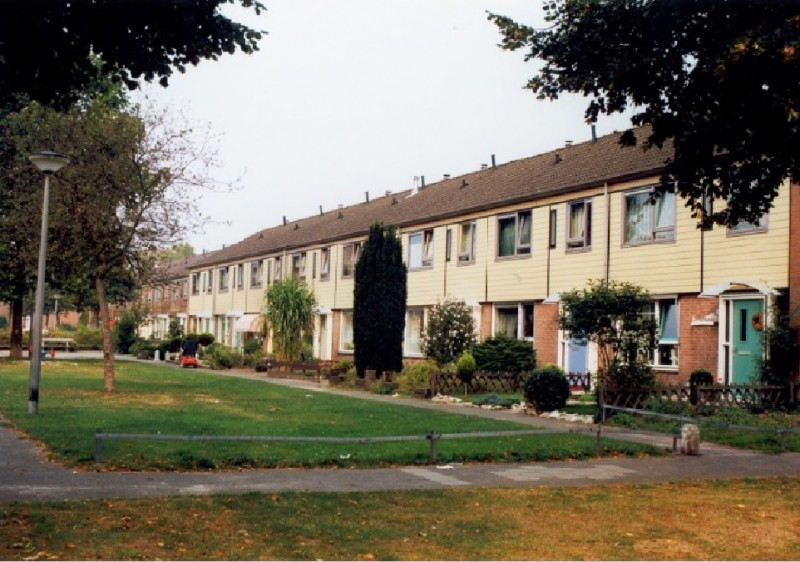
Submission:
{"label": "dark overhanging foliage in the top left corner above the lamp", "polygon": [[0,2],[0,109],[17,97],[67,108],[100,72],[129,88],[166,86],[174,70],[225,53],[258,50],[261,32],[220,10],[257,0],[3,0]]}

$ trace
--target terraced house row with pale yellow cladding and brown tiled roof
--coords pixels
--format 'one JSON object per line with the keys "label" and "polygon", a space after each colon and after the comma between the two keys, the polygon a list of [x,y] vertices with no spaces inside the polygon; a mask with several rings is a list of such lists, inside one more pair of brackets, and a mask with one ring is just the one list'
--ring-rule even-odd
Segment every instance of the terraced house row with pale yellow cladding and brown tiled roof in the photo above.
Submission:
{"label": "terraced house row with pale yellow cladding and brown tiled roof", "polygon": [[190,332],[240,346],[260,330],[265,289],[295,277],[319,303],[315,356],[345,358],[353,271],[369,226],[382,221],[398,227],[408,266],[409,360],[422,357],[430,308],[454,298],[472,307],[481,338],[504,333],[530,341],[540,363],[593,371],[591,344],[558,329],[559,293],[609,279],[654,296],[660,378],[686,381],[705,368],[719,382],[748,382],[775,307],[792,306],[800,293],[796,189],[784,185],[758,223],[700,229],[674,194],[651,203],[670,150],[623,148],[617,139],[501,165],[493,157],[460,177],[284,221],[178,264],[185,308],[162,307],[161,321],[172,315]]}

